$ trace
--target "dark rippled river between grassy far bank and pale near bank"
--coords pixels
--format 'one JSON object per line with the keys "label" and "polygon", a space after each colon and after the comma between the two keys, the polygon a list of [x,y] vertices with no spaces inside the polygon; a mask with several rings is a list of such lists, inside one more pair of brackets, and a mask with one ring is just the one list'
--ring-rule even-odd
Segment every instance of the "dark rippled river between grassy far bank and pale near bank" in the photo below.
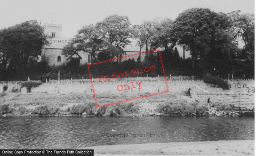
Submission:
{"label": "dark rippled river between grassy far bank and pale near bank", "polygon": [[[123,135],[108,137],[112,134]],[[75,149],[254,137],[254,117],[0,117],[0,149]]]}

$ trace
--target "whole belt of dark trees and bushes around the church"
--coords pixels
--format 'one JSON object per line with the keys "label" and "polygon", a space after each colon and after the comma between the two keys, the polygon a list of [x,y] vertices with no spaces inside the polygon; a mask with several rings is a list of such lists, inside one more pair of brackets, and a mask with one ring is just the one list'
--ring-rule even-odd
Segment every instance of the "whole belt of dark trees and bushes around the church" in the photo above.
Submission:
{"label": "whole belt of dark trees and bushes around the church", "polygon": [[[142,23],[145,27],[141,28],[130,28],[131,22],[127,16],[111,15],[96,24],[82,27],[72,39],[79,42],[67,44],[62,54],[70,57],[83,51],[92,56],[90,63],[104,61],[126,55],[124,48],[131,44],[132,38],[137,41],[139,51],[142,51],[144,46],[146,51],[155,48],[164,49],[161,54],[167,75],[202,76],[206,71],[209,73],[214,71],[214,75],[234,74],[242,78],[245,74],[245,78],[252,78],[255,63],[254,15],[249,13],[240,15],[244,20],[238,20],[234,23],[237,25],[232,28],[230,24],[233,23],[227,25],[219,23],[221,27],[216,28],[218,23],[216,19],[223,14],[208,8],[190,8],[180,13],[175,20],[169,18],[145,20]],[[58,70],[61,76],[76,74],[84,78],[89,77],[86,65],[79,66],[77,60],[71,59],[67,65],[58,67],[49,67],[46,62],[37,62],[42,46],[48,43],[36,44],[30,43],[30,40],[46,40],[49,36],[44,34],[44,28],[35,20],[4,28],[0,30],[0,36],[0,80],[25,81],[32,74],[57,76]],[[245,43],[242,49],[237,47],[238,36]],[[218,43],[217,40],[225,42]],[[182,59],[175,46],[184,47],[184,51],[189,51],[191,57]],[[157,55],[146,53],[145,61],[141,62],[139,55],[137,62],[131,59],[132,67],[141,67],[145,63],[157,62],[158,59]],[[131,61],[124,61],[126,67],[118,65],[121,64],[121,59],[113,63],[108,62],[106,66],[110,68],[107,70],[127,69],[131,67],[128,65]],[[92,68],[91,70],[97,73],[94,77],[97,77],[98,73],[105,73],[102,66],[102,69],[95,66]],[[157,72],[153,75],[161,75],[161,72]],[[225,83],[223,85],[225,86]]]}

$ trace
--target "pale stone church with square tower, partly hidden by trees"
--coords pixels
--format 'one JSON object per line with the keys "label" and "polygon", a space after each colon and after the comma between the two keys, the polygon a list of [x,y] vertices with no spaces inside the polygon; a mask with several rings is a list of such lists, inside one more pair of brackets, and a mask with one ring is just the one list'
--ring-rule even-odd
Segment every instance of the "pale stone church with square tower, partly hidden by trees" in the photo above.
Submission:
{"label": "pale stone church with square tower, partly hidden by trees", "polygon": [[[65,45],[72,42],[71,38],[63,38],[62,37],[62,25],[61,24],[44,24],[45,34],[52,36],[52,39],[49,39],[49,46],[44,46],[41,53],[41,61],[48,62],[50,66],[60,66],[63,65],[71,59],[77,59],[80,65],[84,65],[86,63],[90,63],[91,54],[79,51],[78,54],[65,56],[62,55],[62,49]],[[139,47],[136,46],[136,41],[132,41],[132,45],[128,45],[124,48],[124,51],[127,55],[135,54],[139,52]],[[145,48],[142,48],[142,51],[145,51]],[[141,61],[144,61],[146,55],[141,55]],[[137,61],[138,55],[129,57],[134,58]],[[127,60],[129,58],[123,58],[121,61]]]}

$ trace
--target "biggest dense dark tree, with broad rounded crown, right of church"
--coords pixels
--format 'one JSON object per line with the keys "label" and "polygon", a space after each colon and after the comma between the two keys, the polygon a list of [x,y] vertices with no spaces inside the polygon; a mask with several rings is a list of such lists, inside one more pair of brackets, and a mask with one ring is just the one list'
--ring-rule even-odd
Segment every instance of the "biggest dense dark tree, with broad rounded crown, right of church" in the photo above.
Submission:
{"label": "biggest dense dark tree, with broad rounded crown, right of church", "polygon": [[[214,22],[208,22],[208,19],[218,16],[220,14],[208,8],[191,8],[180,13],[174,21],[173,31],[178,39],[177,44],[185,45],[186,50],[190,51],[193,67],[199,59],[207,64],[213,63],[220,70],[229,70],[225,61],[239,52],[233,32],[215,29]],[[219,42],[221,40],[225,43]]]}

